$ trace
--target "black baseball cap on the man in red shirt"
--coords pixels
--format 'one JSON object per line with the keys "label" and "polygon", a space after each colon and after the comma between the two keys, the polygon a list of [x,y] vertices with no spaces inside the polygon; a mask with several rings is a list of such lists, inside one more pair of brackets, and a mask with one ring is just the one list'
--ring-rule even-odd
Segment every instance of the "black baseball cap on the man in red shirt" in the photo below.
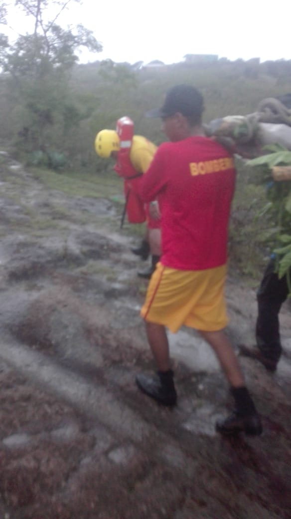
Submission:
{"label": "black baseball cap on the man in red shirt", "polygon": [[162,108],[154,108],[146,117],[170,117],[180,112],[182,115],[201,117],[203,97],[192,85],[176,85],[168,90]]}

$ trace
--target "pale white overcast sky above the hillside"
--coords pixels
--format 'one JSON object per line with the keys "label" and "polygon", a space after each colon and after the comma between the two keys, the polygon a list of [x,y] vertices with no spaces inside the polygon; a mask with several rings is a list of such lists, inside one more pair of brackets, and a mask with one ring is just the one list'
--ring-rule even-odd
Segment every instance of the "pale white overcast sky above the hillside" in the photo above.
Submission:
{"label": "pale white overcast sky above the hillside", "polygon": [[[24,15],[15,13],[9,25],[20,33],[30,30]],[[291,59],[290,19],[290,0],[83,0],[82,6],[69,5],[62,24],[82,23],[103,44],[103,52],[82,52],[83,63],[174,63],[192,53]]]}

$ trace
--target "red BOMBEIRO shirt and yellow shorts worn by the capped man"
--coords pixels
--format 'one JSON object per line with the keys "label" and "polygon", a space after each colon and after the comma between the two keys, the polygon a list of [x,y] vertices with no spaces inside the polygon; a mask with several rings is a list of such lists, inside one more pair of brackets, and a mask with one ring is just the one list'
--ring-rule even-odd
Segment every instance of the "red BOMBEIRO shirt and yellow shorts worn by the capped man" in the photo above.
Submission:
{"label": "red BOMBEIRO shirt and yellow shorts worn by the capped man", "polygon": [[227,323],[223,288],[227,234],[235,188],[234,161],[215,141],[191,136],[159,146],[140,195],[158,197],[162,257],[141,316],[173,332],[182,324],[203,331]]}

